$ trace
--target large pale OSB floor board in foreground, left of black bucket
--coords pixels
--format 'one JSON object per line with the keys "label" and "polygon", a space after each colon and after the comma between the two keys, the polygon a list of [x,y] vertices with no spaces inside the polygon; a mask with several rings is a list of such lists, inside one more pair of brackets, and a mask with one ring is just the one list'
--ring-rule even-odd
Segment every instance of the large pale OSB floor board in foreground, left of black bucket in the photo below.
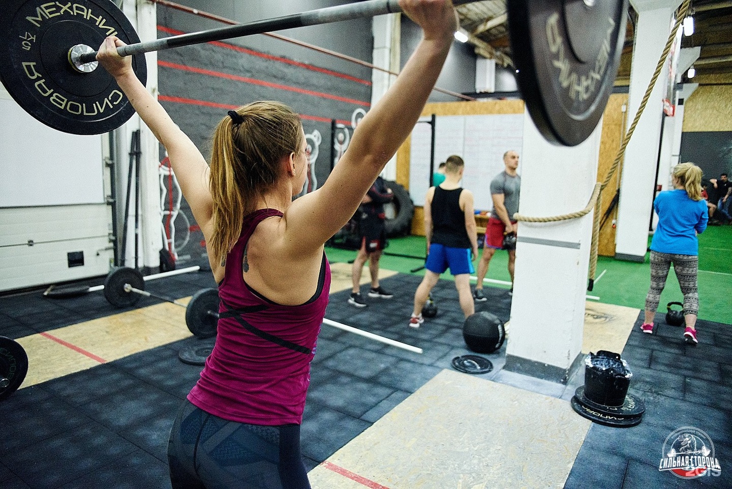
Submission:
{"label": "large pale OSB floor board in foreground, left of black bucket", "polygon": [[[327,462],[368,487],[561,488],[590,424],[565,400],[446,369]],[[309,477],[356,487],[324,465]]]}

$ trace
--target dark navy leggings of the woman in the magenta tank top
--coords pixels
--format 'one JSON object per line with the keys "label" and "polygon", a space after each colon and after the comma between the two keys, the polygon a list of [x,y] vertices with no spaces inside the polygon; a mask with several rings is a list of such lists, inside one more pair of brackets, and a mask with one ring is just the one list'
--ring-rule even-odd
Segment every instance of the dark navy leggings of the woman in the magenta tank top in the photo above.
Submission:
{"label": "dark navy leggings of the woman in the magenta tank top", "polygon": [[310,489],[300,425],[221,419],[186,401],[168,443],[173,489]]}

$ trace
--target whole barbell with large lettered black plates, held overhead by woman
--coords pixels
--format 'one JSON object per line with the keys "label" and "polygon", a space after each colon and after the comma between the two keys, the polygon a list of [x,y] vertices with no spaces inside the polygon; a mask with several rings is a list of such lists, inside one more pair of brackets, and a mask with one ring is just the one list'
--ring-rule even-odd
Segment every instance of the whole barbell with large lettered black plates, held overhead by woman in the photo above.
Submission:
{"label": "whole barbell with large lettered black plates, held overhead by woman", "polygon": [[[144,84],[149,51],[401,12],[397,0],[366,0],[141,43],[109,0],[0,3],[2,83],[31,116],[74,134],[109,132],[134,113],[114,79],[97,69],[94,48],[108,35],[127,44],[118,52],[132,56]],[[574,146],[597,126],[615,81],[627,10],[628,0],[507,0],[518,86],[548,141]]]}

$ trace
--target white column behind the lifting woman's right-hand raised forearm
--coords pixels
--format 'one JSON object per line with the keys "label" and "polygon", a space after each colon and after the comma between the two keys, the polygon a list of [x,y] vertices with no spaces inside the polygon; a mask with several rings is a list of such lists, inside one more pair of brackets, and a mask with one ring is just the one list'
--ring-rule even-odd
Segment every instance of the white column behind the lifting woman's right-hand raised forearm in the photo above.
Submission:
{"label": "white column behind the lifting woman's right-hand raised forearm", "polygon": [[[399,73],[400,67],[400,14],[376,15],[372,21],[373,30],[373,65],[392,73]],[[381,70],[371,70],[371,106],[376,105],[384,96],[386,90],[392,86],[396,76],[384,73]],[[396,156],[386,163],[381,176],[386,180],[395,180],[397,177]]]}

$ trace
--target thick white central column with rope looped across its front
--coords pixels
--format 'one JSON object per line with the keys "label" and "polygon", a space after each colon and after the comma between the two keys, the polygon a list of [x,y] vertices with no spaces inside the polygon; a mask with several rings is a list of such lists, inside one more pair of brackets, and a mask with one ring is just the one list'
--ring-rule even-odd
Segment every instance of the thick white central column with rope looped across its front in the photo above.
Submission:
{"label": "thick white central column with rope looped across its front", "polygon": [[[597,180],[601,128],[602,122],[576,147],[559,147],[545,141],[526,115],[519,213],[556,216],[586,207]],[[519,223],[504,369],[565,382],[580,358],[592,215]]]}

